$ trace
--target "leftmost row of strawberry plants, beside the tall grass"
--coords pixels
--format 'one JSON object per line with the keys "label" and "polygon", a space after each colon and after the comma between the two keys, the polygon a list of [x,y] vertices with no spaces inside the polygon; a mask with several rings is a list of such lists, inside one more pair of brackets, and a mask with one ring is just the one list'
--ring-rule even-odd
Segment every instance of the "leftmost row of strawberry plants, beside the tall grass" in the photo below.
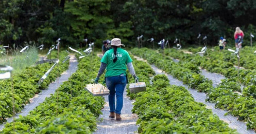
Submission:
{"label": "leftmost row of strawberry plants, beside the tall grass", "polygon": [[[60,60],[63,60],[66,55],[66,52],[61,52]],[[57,52],[53,52],[52,56],[57,58]],[[52,64],[45,63],[27,67],[23,71],[15,73],[12,79],[0,81],[0,124],[13,116],[13,105],[15,106],[15,113],[20,112],[29,103],[29,99],[34,97],[35,93],[47,88],[68,66],[68,62],[60,63],[41,85],[38,85],[38,81],[52,67]],[[14,100],[12,100],[12,95]]]}

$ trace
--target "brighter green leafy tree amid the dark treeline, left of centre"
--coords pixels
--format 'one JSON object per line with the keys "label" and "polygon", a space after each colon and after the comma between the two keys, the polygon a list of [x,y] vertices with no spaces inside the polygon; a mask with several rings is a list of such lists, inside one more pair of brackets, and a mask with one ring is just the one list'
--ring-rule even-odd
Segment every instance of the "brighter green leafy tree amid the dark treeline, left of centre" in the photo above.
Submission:
{"label": "brighter green leafy tree amid the dark treeline, left of centre", "polygon": [[77,0],[66,4],[64,11],[71,25],[69,31],[73,39],[77,39],[76,43],[86,38],[92,42],[107,38],[106,31],[114,28],[108,15],[111,1]]}

